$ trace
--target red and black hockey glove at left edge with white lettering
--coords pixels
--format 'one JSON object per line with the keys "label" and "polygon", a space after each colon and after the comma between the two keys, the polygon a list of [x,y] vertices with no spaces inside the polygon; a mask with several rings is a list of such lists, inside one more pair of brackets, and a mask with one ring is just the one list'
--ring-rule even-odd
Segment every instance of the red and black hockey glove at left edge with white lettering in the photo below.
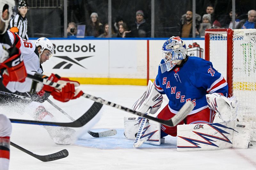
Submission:
{"label": "red and black hockey glove at left edge with white lettering", "polygon": [[1,68],[4,68],[1,73],[4,86],[10,81],[24,82],[27,77],[27,71],[20,50],[16,47],[11,47],[8,51],[10,52],[10,57],[0,64]]}

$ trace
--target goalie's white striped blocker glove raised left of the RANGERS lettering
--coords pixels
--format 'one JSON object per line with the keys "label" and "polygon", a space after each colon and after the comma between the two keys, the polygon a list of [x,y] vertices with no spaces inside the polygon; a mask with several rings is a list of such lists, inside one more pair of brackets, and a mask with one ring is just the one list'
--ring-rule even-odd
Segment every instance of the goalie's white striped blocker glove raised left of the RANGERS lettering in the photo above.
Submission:
{"label": "goalie's white striped blocker glove raised left of the RANGERS lettering", "polygon": [[157,90],[152,81],[148,81],[147,91],[143,93],[139,100],[137,100],[132,109],[141,113],[146,113],[149,108],[150,114],[155,114],[163,103],[163,96]]}

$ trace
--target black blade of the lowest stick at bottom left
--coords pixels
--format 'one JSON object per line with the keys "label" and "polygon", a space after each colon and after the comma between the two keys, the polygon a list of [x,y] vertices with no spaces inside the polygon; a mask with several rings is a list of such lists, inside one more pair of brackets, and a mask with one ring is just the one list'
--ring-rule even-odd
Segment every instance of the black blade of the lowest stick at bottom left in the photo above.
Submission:
{"label": "black blade of the lowest stick at bottom left", "polygon": [[52,153],[49,155],[36,155],[35,158],[37,158],[43,162],[49,162],[49,161],[53,161],[53,160],[66,158],[67,156],[68,156],[68,150],[63,149],[62,151]]}

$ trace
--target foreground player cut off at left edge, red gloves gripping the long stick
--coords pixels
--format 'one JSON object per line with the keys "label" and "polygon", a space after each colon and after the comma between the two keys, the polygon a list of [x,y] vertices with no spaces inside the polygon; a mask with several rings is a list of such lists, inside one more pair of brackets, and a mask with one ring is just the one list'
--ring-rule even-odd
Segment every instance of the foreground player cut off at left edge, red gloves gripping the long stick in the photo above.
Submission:
{"label": "foreground player cut off at left edge, red gloves gripping the long stick", "polygon": [[[14,5],[14,0],[0,0],[0,73],[3,84],[7,89],[12,92],[25,92],[24,89],[20,87],[23,82],[27,81],[27,72],[24,66],[23,56],[18,48],[12,46],[8,33],[6,32]],[[62,84],[62,88],[58,90],[49,85],[42,86],[43,90],[50,92],[57,100],[65,102],[75,99],[82,94],[81,91],[77,93],[75,89],[75,86],[79,85],[78,82],[70,81],[67,78],[61,78],[54,74],[52,74],[49,79]],[[27,82],[25,84],[27,84]],[[31,85],[32,81],[30,87]],[[11,131],[12,125],[10,120],[5,115],[0,115],[1,170],[8,170],[9,168]]]}

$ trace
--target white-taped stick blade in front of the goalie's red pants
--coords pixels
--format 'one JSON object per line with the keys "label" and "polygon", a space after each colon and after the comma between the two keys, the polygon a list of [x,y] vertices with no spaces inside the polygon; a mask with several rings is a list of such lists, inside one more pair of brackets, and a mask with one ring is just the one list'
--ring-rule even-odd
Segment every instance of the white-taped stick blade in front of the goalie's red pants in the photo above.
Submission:
{"label": "white-taped stick blade in front of the goalie's red pants", "polygon": [[172,117],[172,124],[176,126],[183,119],[187,117],[187,115],[194,109],[194,105],[191,101],[187,101],[179,110],[179,112]]}

